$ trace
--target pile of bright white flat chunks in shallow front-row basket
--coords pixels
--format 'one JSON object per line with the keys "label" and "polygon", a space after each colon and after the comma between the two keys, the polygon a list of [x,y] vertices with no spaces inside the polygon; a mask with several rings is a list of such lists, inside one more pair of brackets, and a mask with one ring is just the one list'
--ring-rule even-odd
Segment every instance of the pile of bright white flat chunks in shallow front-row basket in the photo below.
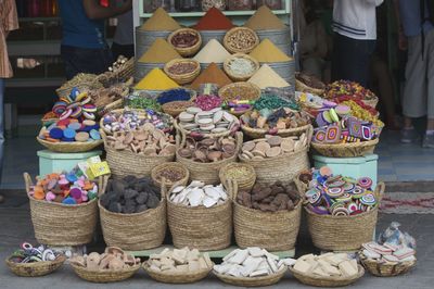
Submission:
{"label": "pile of bright white flat chunks in shallow front-row basket", "polygon": [[270,254],[267,250],[251,247],[232,251],[224,257],[224,263],[214,266],[214,271],[234,277],[259,277],[276,274],[294,262],[292,259],[279,261],[279,256]]}

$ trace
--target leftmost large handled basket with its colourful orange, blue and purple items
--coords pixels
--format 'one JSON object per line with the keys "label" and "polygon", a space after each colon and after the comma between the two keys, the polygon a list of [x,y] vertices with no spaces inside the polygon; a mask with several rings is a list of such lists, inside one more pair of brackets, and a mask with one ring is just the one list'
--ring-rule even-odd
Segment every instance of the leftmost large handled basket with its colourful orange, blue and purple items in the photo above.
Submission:
{"label": "leftmost large handled basket with its colourful orange, blue and purple items", "polygon": [[81,246],[92,240],[97,196],[104,188],[104,178],[89,181],[80,177],[82,174],[74,168],[66,174],[50,174],[34,185],[31,177],[24,173],[35,238],[39,243]]}

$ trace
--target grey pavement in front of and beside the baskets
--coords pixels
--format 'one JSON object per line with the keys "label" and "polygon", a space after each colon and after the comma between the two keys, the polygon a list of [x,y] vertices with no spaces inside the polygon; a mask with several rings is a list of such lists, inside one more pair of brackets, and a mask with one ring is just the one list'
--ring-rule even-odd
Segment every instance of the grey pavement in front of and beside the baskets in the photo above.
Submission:
{"label": "grey pavement in front of and beside the baskets", "polygon": [[[22,191],[8,191],[7,197],[14,194],[14,202],[5,203],[0,206],[0,257],[4,260],[23,241],[35,241],[30,214],[26,197]],[[11,199],[9,199],[11,200]],[[418,241],[418,265],[405,276],[394,278],[373,277],[367,273],[352,288],[434,288],[434,215],[385,215],[381,214],[378,231],[382,231],[392,221],[401,223],[401,228],[409,231]],[[316,252],[314,246],[308,240],[308,234],[302,224],[301,237],[297,246],[297,255],[308,252]],[[97,244],[98,246],[98,244]],[[99,244],[100,249],[103,247]],[[64,265],[58,272],[39,278],[22,278],[13,275],[3,262],[0,263],[0,288],[169,288],[171,285],[158,284],[150,279],[143,271],[140,271],[133,278],[110,285],[89,284],[79,279],[74,272]],[[228,288],[230,286],[220,282],[214,276],[208,276],[194,285],[179,285],[177,288]],[[294,279],[291,274],[275,286],[275,288],[306,288]]]}

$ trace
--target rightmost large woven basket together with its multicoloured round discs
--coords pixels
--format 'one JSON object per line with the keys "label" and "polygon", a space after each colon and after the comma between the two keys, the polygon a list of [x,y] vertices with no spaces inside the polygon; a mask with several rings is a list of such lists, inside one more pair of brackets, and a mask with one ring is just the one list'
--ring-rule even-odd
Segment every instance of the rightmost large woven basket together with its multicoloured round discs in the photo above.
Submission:
{"label": "rightmost large woven basket together with its multicoloured round discs", "polygon": [[302,173],[295,183],[306,193],[307,225],[317,248],[359,250],[372,239],[384,183],[379,183],[372,191],[374,185],[370,178],[356,180],[333,175],[327,166],[314,169],[312,174]]}

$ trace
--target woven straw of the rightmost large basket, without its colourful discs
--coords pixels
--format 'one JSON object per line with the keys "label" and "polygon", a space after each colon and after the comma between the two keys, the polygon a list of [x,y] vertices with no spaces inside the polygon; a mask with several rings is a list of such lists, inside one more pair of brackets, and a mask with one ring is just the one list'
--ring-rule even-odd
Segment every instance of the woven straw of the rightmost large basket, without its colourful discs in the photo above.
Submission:
{"label": "woven straw of the rightmost large basket, without its colourful discs", "polygon": [[315,247],[324,251],[357,251],[372,241],[379,214],[379,203],[384,193],[384,183],[379,183],[374,209],[353,216],[318,215],[305,209],[307,227]]}

